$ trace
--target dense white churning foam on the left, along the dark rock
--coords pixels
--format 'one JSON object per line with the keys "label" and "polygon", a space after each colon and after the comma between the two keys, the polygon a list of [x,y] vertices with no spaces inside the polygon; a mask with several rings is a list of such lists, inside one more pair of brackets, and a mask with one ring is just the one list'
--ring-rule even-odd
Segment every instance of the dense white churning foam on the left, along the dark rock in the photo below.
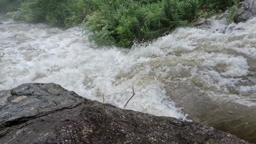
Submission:
{"label": "dense white churning foam on the left, along the dark rock", "polygon": [[[115,85],[115,76],[137,62],[127,50],[96,49],[79,28],[66,31],[45,25],[6,22],[0,26],[0,89],[27,82],[54,82],[87,98],[123,107],[132,95],[127,80]],[[185,119],[185,115],[167,98],[165,90],[154,81],[135,85],[134,97],[127,109]]]}

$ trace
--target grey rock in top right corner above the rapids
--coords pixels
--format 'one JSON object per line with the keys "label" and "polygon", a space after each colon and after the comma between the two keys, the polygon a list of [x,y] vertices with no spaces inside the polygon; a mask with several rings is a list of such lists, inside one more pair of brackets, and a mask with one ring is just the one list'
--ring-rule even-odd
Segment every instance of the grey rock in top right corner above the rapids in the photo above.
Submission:
{"label": "grey rock in top right corner above the rapids", "polygon": [[237,7],[238,10],[234,18],[235,22],[244,22],[256,16],[255,0],[246,0],[239,3]]}

